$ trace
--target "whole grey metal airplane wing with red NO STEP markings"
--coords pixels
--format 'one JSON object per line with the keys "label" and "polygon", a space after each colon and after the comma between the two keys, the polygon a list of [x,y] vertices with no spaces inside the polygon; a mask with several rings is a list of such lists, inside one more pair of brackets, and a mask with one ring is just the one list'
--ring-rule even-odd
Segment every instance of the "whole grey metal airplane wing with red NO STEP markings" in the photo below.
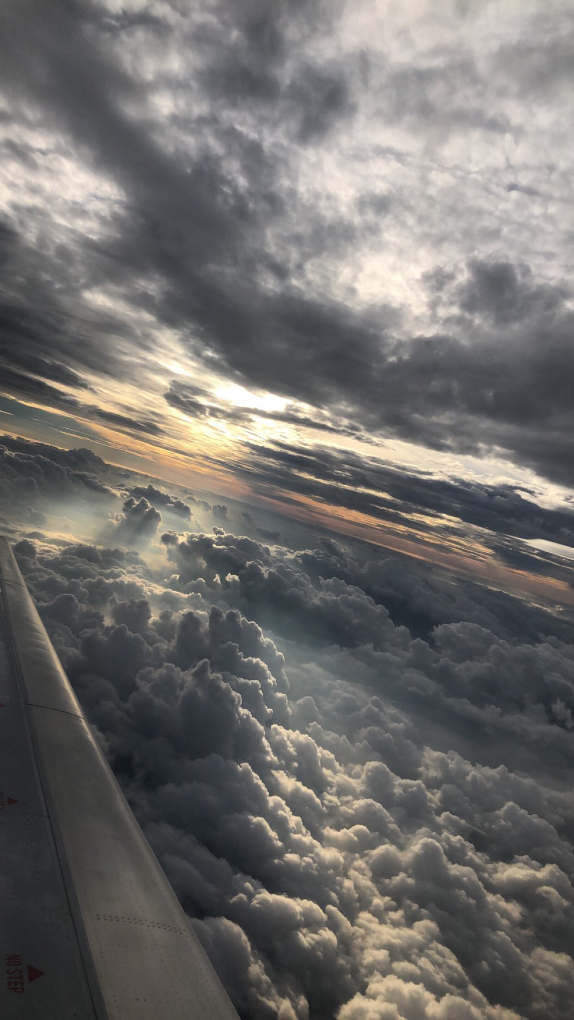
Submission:
{"label": "whole grey metal airplane wing with red NO STEP markings", "polygon": [[238,1020],[0,539],[0,1016]]}

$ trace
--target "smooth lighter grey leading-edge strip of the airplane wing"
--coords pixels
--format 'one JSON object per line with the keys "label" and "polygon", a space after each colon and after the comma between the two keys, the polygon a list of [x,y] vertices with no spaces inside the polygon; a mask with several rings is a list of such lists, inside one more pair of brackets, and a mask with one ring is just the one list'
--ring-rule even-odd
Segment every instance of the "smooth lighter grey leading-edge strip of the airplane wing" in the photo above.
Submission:
{"label": "smooth lighter grey leading-edge strip of the airplane wing", "polygon": [[[60,881],[68,901],[75,966],[82,977],[77,960],[80,954],[84,982],[93,1000],[92,1013],[60,1009],[41,1015],[57,1015],[58,1020],[84,1016],[98,1020],[237,1020],[83,718],[21,577],[13,579],[17,566],[7,543],[0,541],[2,577],[7,573],[7,559],[11,577],[2,588],[29,743],[44,792],[43,818],[51,825]],[[32,635],[30,644],[28,633]],[[16,743],[20,740],[21,733]],[[0,766],[3,758],[0,749]],[[0,821],[2,814],[0,811]],[[37,922],[44,925],[41,912]],[[40,986],[38,979],[34,990]],[[5,1015],[36,1020],[33,1013]]]}

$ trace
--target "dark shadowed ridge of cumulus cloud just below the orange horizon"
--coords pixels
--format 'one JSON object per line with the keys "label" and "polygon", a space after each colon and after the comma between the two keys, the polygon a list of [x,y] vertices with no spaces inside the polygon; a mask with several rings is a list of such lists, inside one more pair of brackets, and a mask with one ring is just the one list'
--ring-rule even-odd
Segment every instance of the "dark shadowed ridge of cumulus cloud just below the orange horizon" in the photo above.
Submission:
{"label": "dark shadowed ridge of cumulus cloud just below the orange horizon", "polygon": [[321,627],[324,635],[336,639],[342,622],[337,614],[346,600],[355,611],[348,614],[345,632],[354,634],[356,644],[362,633],[371,632],[373,619],[383,621],[386,616],[425,639],[439,623],[461,619],[504,639],[569,636],[568,620],[563,625],[553,613],[534,610],[503,592],[441,578],[432,567],[415,570],[385,554],[351,554],[334,540],[324,540],[320,549],[278,556],[256,540],[223,529],[183,538],[172,532],[162,541],[171,547],[178,588],[192,591],[199,574],[213,598],[223,592],[239,608],[287,635],[301,626],[307,635]]}

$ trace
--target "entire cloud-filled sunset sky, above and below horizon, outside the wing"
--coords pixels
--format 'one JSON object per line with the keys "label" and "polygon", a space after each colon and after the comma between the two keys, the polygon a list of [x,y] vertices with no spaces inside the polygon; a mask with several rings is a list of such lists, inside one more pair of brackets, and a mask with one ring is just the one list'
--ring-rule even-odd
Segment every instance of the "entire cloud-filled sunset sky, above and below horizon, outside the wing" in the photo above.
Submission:
{"label": "entire cloud-filled sunset sky, above and below horizon, outside the wing", "polygon": [[0,525],[242,1020],[567,1020],[572,4],[0,30]]}

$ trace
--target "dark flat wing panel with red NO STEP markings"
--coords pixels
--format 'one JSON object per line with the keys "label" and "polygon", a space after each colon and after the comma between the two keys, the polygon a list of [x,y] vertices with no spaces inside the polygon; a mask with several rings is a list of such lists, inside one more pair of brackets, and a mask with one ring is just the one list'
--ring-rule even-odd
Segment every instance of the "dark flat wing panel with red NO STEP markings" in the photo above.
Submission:
{"label": "dark flat wing panel with red NO STEP markings", "polygon": [[5,623],[0,597],[0,1016],[95,1020]]}

